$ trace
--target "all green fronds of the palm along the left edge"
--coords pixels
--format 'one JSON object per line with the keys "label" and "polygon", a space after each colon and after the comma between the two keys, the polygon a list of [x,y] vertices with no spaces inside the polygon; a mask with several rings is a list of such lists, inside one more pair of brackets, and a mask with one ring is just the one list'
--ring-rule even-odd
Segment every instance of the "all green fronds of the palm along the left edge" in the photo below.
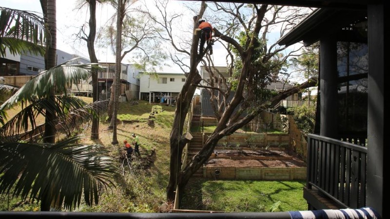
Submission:
{"label": "all green fronds of the palm along the left edge", "polygon": [[[49,1],[54,2],[55,5],[55,0]],[[46,1],[41,0],[42,2]],[[42,3],[43,5],[47,4]],[[22,26],[20,21],[23,19],[11,16],[14,15],[12,10],[1,8],[0,20],[12,21],[6,22],[6,25],[3,22],[0,24],[1,30],[8,28],[8,31],[0,32],[0,50],[5,51],[5,47],[11,46],[11,51],[15,53],[27,52],[43,40],[33,40],[32,44],[35,45],[24,41],[34,38],[37,33],[40,35],[43,29],[39,29],[38,24],[34,25],[34,22],[27,22],[36,19],[28,18],[28,14],[24,14],[24,21],[26,21],[23,23],[24,29],[35,28],[40,31],[18,31],[18,26]],[[8,17],[4,17],[6,15]],[[9,27],[12,22],[16,25]],[[17,40],[13,40],[12,37],[16,37]],[[8,138],[10,135],[17,136],[28,128],[36,130],[38,128],[36,118],[39,114],[46,118],[48,113],[56,115],[52,120],[45,120],[53,128],[50,131],[54,133],[66,127],[77,127],[78,123],[74,121],[79,121],[79,118],[96,115],[97,103],[87,106],[75,97],[60,95],[66,94],[67,86],[90,77],[91,71],[96,66],[93,63],[73,65],[71,64],[73,61],[70,60],[39,73],[0,106],[0,123],[3,124],[0,128],[0,133],[3,134],[0,137],[0,193],[33,201],[39,200],[41,211],[48,211],[51,206],[58,209],[62,206],[66,209],[79,206],[82,196],[87,204],[92,204],[94,201],[98,203],[100,188],[114,185],[111,179],[116,173],[116,168],[113,160],[106,156],[104,150],[101,150],[101,146],[80,145],[77,143],[80,138],[78,136],[66,138],[67,140],[56,144],[20,143],[9,141]],[[5,123],[5,109],[16,103],[21,103],[22,110]],[[60,130],[56,128],[57,124],[61,124]]]}

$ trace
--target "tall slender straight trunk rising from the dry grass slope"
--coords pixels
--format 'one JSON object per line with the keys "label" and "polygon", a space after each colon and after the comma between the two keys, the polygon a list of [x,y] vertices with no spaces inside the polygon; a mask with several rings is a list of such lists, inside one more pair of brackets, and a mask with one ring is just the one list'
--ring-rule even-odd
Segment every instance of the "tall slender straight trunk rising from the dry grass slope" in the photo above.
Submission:
{"label": "tall slender straight trunk rising from the dry grass slope", "polygon": [[118,144],[117,139],[117,112],[118,112],[118,96],[120,89],[120,74],[121,74],[121,43],[122,43],[122,0],[118,0],[117,8],[117,39],[116,39],[116,54],[115,54],[115,78],[114,78],[114,106],[113,117],[111,118],[113,124],[113,141],[111,144]]}

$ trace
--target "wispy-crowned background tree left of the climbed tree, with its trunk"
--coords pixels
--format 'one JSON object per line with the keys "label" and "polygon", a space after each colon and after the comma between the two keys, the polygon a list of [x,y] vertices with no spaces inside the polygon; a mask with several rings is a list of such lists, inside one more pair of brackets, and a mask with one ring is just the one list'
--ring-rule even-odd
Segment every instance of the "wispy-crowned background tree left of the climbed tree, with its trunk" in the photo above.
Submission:
{"label": "wispy-crowned background tree left of the climbed tree, with its trunk", "polygon": [[[161,52],[158,33],[154,21],[142,15],[142,11],[135,5],[137,0],[111,1],[117,9],[116,19],[111,19],[111,24],[102,29],[101,40],[106,40],[116,56],[116,73],[114,89],[108,107],[110,120],[109,128],[113,129],[112,144],[117,144],[117,108],[120,93],[120,75],[122,72],[122,60],[130,56],[136,62],[136,67],[145,72],[155,72],[158,63],[165,59]],[[116,26],[114,26],[116,21]]]}

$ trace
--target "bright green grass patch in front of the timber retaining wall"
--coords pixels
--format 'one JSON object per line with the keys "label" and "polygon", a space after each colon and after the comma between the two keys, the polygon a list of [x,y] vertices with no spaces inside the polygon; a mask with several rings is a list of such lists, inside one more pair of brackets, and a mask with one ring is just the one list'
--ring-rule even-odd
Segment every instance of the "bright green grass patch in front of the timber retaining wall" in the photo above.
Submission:
{"label": "bright green grass patch in front of the timber retaining wall", "polygon": [[305,181],[210,181],[193,179],[186,187],[182,208],[223,212],[307,210]]}

